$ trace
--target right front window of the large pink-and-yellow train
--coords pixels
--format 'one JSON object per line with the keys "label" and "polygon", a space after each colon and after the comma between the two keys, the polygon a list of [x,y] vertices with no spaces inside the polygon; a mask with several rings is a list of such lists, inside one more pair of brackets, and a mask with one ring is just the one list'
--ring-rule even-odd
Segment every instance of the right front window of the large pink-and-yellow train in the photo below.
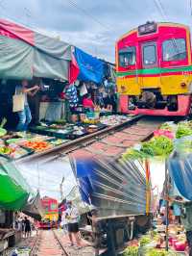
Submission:
{"label": "right front window of the large pink-and-yellow train", "polygon": [[164,62],[182,61],[186,55],[186,41],[184,38],[168,39],[162,43],[162,57]]}

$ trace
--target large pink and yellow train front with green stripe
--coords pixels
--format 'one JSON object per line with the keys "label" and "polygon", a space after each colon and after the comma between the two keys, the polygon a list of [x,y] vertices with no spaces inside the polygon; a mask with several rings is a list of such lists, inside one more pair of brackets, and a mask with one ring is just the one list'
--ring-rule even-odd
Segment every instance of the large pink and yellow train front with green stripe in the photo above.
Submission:
{"label": "large pink and yellow train front with green stripe", "polygon": [[120,111],[132,115],[191,115],[189,27],[147,22],[116,41]]}

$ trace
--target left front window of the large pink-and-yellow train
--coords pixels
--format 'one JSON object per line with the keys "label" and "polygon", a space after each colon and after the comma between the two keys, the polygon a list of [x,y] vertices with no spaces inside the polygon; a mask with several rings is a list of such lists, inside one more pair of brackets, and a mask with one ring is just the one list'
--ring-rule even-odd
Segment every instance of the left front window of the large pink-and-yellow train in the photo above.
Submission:
{"label": "left front window of the large pink-and-yellow train", "polygon": [[129,46],[119,51],[119,65],[128,66],[136,63],[136,49]]}

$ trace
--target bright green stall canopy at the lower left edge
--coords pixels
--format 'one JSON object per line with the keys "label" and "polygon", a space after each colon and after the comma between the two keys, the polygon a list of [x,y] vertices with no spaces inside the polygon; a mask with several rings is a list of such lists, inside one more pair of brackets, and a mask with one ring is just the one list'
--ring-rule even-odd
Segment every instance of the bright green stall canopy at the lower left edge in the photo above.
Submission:
{"label": "bright green stall canopy at the lower left edge", "polygon": [[5,210],[21,210],[32,194],[16,166],[4,159],[0,160],[0,184],[0,208]]}

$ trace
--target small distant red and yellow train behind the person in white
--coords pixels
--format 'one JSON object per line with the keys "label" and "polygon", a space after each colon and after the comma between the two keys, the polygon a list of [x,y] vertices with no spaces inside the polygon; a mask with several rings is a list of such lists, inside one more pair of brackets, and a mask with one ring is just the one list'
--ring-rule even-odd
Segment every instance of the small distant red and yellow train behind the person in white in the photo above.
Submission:
{"label": "small distant red and yellow train behind the person in white", "polygon": [[45,215],[38,222],[38,228],[50,229],[58,227],[59,220],[59,203],[58,200],[44,196],[41,199],[42,207],[45,210]]}

